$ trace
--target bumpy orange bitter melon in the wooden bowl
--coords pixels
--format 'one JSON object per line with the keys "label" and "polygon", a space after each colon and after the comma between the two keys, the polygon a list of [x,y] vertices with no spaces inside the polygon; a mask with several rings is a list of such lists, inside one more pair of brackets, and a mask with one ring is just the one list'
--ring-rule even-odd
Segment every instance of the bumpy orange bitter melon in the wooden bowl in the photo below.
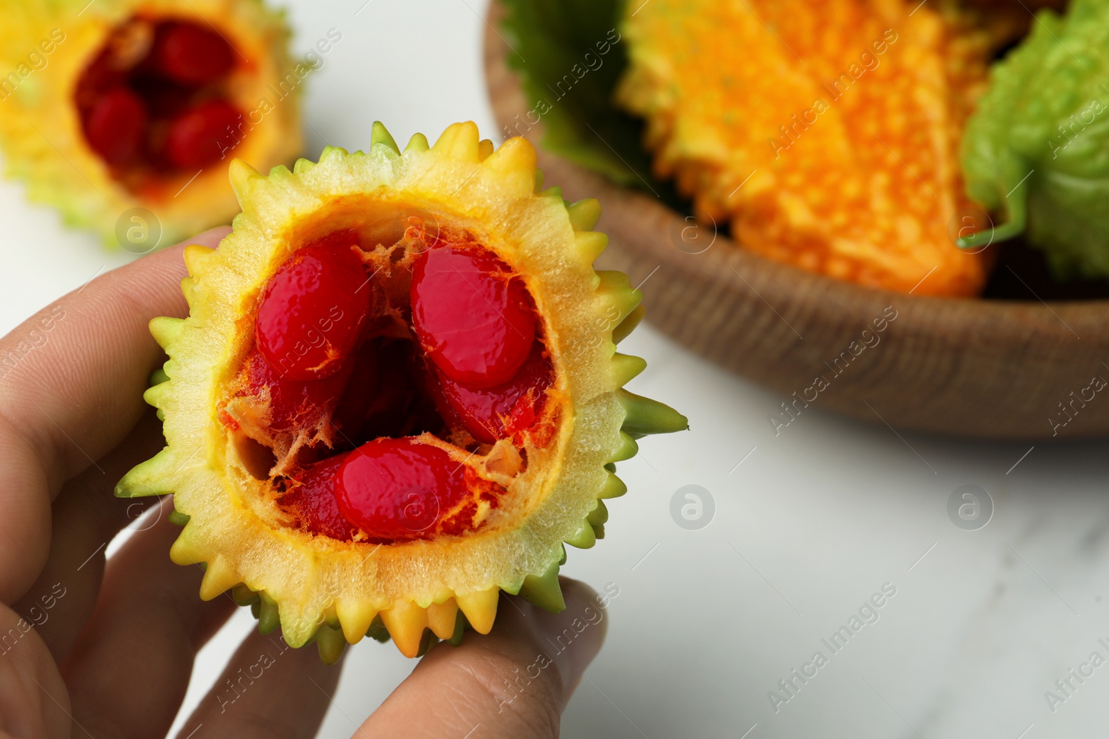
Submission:
{"label": "bumpy orange bitter melon in the wooden bowl", "polygon": [[[617,90],[654,174],[745,248],[830,277],[970,296],[958,138],[1019,19],[955,2],[652,0],[624,6]],[[1027,13],[1025,13],[1027,16]],[[927,279],[924,279],[927,276]]]}

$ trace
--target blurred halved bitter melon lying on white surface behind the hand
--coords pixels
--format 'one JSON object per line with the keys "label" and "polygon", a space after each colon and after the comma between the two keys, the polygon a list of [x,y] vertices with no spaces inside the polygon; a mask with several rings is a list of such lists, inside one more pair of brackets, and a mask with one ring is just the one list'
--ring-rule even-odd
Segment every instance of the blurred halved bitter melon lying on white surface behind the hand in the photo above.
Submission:
{"label": "blurred halved bitter melon lying on white surface behind the hand", "polygon": [[0,18],[7,173],[108,243],[134,208],[159,222],[134,222],[135,252],[226,223],[232,152],[265,168],[299,154],[311,68],[261,0],[0,0]]}

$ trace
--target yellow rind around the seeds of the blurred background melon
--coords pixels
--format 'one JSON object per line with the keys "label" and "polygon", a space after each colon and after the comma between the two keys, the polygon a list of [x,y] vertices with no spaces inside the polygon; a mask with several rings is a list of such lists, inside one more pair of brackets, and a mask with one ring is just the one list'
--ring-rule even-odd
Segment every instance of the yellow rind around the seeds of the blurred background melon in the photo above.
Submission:
{"label": "yellow rind around the seeds of the blurred background melon", "polygon": [[[195,179],[194,172],[183,173],[136,194],[114,179],[87,145],[73,104],[74,88],[112,29],[136,13],[193,21],[205,28],[211,23],[242,54],[231,78],[228,99],[248,119],[247,125],[257,123],[235,148],[235,156],[268,168],[299,154],[298,97],[304,82],[297,71],[307,73],[288,55],[291,31],[283,12],[267,9],[260,0],[87,3],[0,0],[0,74],[14,73],[18,81],[12,84],[9,80],[8,86],[0,89],[0,145],[6,174],[27,183],[29,199],[57,207],[67,225],[93,229],[109,246],[118,246],[116,220],[131,208],[143,207],[154,214],[162,229],[161,246],[227,223],[238,213],[235,193],[227,184],[230,157],[205,167]],[[38,44],[57,41],[59,35],[61,42],[43,53]],[[44,59],[41,69],[29,64],[31,52]],[[6,80],[0,79],[0,84]],[[289,91],[284,97],[279,96],[282,81]]]}

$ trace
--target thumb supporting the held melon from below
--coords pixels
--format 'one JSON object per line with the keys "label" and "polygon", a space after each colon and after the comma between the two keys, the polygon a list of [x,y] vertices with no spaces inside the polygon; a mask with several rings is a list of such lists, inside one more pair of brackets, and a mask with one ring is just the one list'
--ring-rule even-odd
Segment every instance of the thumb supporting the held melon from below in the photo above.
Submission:
{"label": "thumb supporting the held melon from below", "polygon": [[[488,636],[439,644],[362,729],[367,736],[506,739],[559,736],[562,709],[608,627],[602,598],[562,579],[566,610],[548,614],[519,598],[501,601]],[[509,605],[513,607],[509,607]]]}

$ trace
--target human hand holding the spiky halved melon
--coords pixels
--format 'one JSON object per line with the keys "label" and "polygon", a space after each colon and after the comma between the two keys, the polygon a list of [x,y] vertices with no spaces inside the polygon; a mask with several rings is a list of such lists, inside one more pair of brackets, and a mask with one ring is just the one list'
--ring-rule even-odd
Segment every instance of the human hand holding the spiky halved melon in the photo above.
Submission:
{"label": "human hand holding the spiky halved melon", "polygon": [[[192,243],[215,247],[226,233]],[[170,562],[180,531],[167,521],[171,501],[112,495],[164,443],[142,402],[162,361],[146,324],[187,314],[184,276],[181,247],[164,249],[0,339],[0,739],[165,736],[196,651],[236,607],[230,597],[201,601],[201,569]],[[150,507],[105,561],[108,542]],[[505,596],[512,607],[501,603],[488,636],[433,648],[355,736],[558,736],[608,626],[600,596],[573,581],[562,591],[559,615]],[[572,628],[576,620],[586,626]],[[559,640],[566,629],[573,638]],[[272,665],[257,687],[233,704],[222,698],[225,680],[262,654]],[[253,633],[180,736],[315,736],[338,677],[315,649]]]}

